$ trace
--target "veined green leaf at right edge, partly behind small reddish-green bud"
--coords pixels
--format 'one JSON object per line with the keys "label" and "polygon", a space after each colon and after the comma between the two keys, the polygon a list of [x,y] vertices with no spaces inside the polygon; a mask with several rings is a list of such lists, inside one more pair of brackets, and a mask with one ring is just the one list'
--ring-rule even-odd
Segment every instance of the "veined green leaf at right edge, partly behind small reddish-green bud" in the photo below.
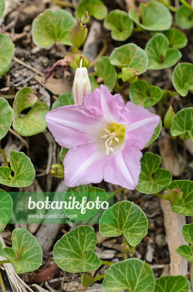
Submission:
{"label": "veined green leaf at right edge, partly behind small reddish-green bud", "polygon": [[171,210],[185,216],[193,215],[193,182],[191,180],[173,180],[166,187],[166,192],[175,187],[184,193],[176,205],[171,205]]}

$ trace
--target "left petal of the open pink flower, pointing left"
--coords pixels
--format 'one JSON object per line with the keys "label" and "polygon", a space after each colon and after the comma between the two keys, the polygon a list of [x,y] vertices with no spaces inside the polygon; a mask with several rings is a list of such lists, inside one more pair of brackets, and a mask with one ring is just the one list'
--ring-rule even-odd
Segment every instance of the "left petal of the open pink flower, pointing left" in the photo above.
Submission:
{"label": "left petal of the open pink flower, pointing left", "polygon": [[95,108],[66,105],[48,112],[45,121],[56,142],[62,147],[72,148],[92,143],[93,136],[98,137],[96,125],[101,124],[103,115]]}

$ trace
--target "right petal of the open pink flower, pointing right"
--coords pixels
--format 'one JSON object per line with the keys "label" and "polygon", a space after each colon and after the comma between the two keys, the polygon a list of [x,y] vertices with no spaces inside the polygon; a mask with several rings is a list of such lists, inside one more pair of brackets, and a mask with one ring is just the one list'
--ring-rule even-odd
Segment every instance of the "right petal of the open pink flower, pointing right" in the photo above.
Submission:
{"label": "right petal of the open pink flower, pointing right", "polygon": [[120,124],[125,120],[127,120],[125,140],[138,149],[143,149],[158,126],[160,117],[129,101],[122,112]]}

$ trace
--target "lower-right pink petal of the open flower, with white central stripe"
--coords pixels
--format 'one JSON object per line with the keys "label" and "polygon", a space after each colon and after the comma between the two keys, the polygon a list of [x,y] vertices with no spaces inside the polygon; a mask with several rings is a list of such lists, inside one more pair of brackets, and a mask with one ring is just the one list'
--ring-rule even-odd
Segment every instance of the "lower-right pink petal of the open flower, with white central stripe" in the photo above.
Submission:
{"label": "lower-right pink petal of the open flower, with white central stripe", "polygon": [[[114,155],[113,155],[114,154]],[[141,173],[142,152],[125,142],[122,151],[110,155],[104,168],[103,179],[109,183],[134,190]]]}

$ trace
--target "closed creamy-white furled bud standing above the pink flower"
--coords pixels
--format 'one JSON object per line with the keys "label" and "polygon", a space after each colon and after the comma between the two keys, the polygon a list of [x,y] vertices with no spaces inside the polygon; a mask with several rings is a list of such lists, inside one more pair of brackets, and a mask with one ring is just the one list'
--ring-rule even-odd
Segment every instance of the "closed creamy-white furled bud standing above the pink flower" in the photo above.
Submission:
{"label": "closed creamy-white furled bud standing above the pink flower", "polygon": [[80,68],[76,69],[73,83],[73,99],[75,105],[83,104],[83,97],[91,93],[91,85],[86,67],[82,67],[83,59],[80,61]]}

